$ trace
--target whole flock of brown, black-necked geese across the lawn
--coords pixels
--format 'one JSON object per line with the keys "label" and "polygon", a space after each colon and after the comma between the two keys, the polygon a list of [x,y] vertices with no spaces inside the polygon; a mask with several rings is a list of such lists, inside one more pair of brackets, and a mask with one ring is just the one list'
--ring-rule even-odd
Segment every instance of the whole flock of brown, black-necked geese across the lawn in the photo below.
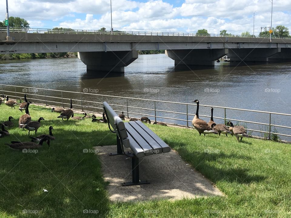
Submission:
{"label": "whole flock of brown, black-necked geese across the lawn", "polygon": [[[2,97],[0,97],[0,105],[4,101],[4,103],[11,108],[15,108],[15,106],[19,105],[19,111],[23,112],[25,111],[25,114],[23,114],[19,118],[18,127],[21,129],[28,130],[28,136],[30,135],[31,131],[35,131],[35,134],[37,134],[37,130],[39,127],[41,127],[41,121],[45,120],[43,117],[39,117],[38,121],[32,121],[32,118],[29,114],[29,105],[31,102],[28,102],[26,99],[26,94],[24,95],[24,102],[18,103],[14,100],[9,100],[9,97],[6,96],[6,99],[4,98],[4,94],[2,94]],[[203,121],[199,118],[199,101],[195,100],[193,101],[197,104],[196,114],[192,120],[193,127],[199,132],[199,135],[204,134],[225,134],[227,137],[227,134],[235,135],[237,140],[242,141],[243,137],[249,137],[246,134],[246,130],[243,126],[233,126],[232,122],[228,122],[227,127],[225,124],[216,124],[213,121],[213,108],[211,107],[211,118],[208,123],[206,121]],[[67,121],[69,118],[72,118],[74,120],[84,120],[85,118],[92,118],[92,122],[98,122],[98,123],[108,123],[108,120],[105,117],[105,113],[103,112],[102,118],[97,119],[96,116],[93,114],[92,116],[87,115],[86,113],[83,113],[83,117],[74,117],[74,111],[72,106],[72,99],[70,99],[70,109],[64,109],[61,107],[52,108],[52,112],[59,113],[60,115],[57,118],[62,118],[62,120],[66,119]],[[125,115],[122,111],[122,114],[118,115],[122,120],[125,120]],[[12,116],[9,116],[8,121],[3,122],[1,125],[0,130],[0,138],[4,136],[10,135],[8,130],[5,129],[5,127],[13,127],[13,123],[11,122],[11,119],[14,119]],[[151,124],[151,121],[148,117],[141,117],[140,119],[137,118],[131,118],[129,121],[142,121]],[[154,122],[153,124],[158,124],[162,126],[167,126],[167,124],[163,122]],[[31,141],[29,142],[19,142],[19,141],[11,141],[11,144],[7,144],[9,147],[14,149],[33,149],[41,147],[43,142],[46,142],[48,145],[50,145],[50,140],[55,140],[55,137],[52,134],[53,127],[49,127],[49,134],[42,134],[36,137],[29,136]]]}

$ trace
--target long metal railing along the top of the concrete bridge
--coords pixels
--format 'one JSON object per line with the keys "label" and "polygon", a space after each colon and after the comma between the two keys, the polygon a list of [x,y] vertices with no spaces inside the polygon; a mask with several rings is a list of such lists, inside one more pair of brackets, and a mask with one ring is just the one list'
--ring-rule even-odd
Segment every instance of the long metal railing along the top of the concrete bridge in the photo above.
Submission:
{"label": "long metal railing along the top of the concrete bridge", "polygon": [[[0,32],[7,32],[7,28],[0,28]],[[183,32],[149,32],[149,31],[99,31],[73,29],[40,29],[40,28],[10,28],[13,33],[47,33],[47,34],[97,34],[97,35],[146,35],[146,36],[202,36],[202,37],[243,37],[269,38],[270,35],[236,35],[236,34],[196,34]],[[291,37],[272,36],[272,38],[291,39]]]}

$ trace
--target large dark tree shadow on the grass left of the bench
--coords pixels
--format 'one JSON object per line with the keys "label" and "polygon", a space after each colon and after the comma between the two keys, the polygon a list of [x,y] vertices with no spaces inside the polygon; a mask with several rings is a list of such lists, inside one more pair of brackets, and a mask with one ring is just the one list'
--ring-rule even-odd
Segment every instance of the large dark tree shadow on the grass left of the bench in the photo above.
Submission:
{"label": "large dark tree shadow on the grass left of the bench", "polygon": [[[92,130],[87,131],[72,120],[43,121],[37,135],[44,131],[48,134],[50,125],[56,137],[50,147],[44,143],[42,148],[26,153],[10,149],[4,144],[13,140],[30,141],[28,131],[17,126],[9,130],[10,136],[0,139],[0,211],[4,217],[5,214],[7,217],[106,216],[109,211],[106,184],[101,162],[92,147],[114,144],[115,137],[108,135],[103,124],[92,127],[89,123]],[[37,212],[23,213],[26,210]],[[87,210],[92,213],[86,213]]]}

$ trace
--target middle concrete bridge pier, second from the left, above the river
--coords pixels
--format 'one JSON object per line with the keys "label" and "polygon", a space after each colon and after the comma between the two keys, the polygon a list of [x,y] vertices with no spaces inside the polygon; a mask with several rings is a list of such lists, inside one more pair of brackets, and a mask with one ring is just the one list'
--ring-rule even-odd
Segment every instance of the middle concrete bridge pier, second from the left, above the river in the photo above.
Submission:
{"label": "middle concrete bridge pier, second from the left, above the river", "polygon": [[175,49],[166,50],[166,55],[175,60],[175,68],[193,69],[196,66],[214,66],[214,61],[228,53],[228,49]]}

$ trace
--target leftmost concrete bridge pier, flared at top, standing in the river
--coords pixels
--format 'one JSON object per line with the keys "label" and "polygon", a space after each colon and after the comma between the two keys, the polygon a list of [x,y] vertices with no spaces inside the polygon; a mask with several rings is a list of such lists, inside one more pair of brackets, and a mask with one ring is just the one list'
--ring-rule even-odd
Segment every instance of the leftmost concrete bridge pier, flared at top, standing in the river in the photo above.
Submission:
{"label": "leftmost concrete bridge pier, flared at top, standing in the river", "polygon": [[87,65],[87,72],[124,74],[124,67],[138,58],[137,51],[78,52],[78,58]]}

